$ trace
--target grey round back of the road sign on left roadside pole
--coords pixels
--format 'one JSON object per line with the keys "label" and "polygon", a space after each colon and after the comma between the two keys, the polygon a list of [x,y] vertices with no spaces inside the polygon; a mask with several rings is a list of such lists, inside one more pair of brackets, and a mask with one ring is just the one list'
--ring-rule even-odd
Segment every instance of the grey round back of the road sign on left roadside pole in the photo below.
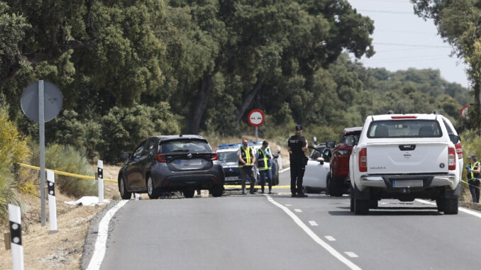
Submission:
{"label": "grey round back of the road sign on left roadside pole", "polygon": [[[62,93],[49,81],[43,81],[43,106],[45,122],[55,118],[62,109]],[[23,90],[20,100],[23,113],[38,122],[38,81],[30,84]]]}

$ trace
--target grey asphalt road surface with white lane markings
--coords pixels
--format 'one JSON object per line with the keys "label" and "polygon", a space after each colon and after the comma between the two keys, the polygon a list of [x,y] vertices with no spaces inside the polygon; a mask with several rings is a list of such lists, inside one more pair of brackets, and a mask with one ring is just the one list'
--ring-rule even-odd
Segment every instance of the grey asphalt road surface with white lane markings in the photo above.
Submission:
{"label": "grey asphalt road surface with white lane markings", "polygon": [[[289,171],[281,174],[289,184]],[[128,201],[101,269],[478,269],[481,218],[419,201],[353,215],[348,196]],[[481,216],[481,215],[480,215]],[[88,249],[88,247],[86,248]]]}

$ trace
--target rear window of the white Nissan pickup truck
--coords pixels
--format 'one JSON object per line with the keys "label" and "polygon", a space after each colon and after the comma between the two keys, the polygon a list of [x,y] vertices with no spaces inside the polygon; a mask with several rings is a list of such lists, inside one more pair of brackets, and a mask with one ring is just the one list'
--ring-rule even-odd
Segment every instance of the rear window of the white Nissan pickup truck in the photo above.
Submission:
{"label": "rear window of the white Nissan pickup truck", "polygon": [[441,137],[441,127],[436,120],[380,120],[373,121],[367,130],[369,138],[389,137]]}

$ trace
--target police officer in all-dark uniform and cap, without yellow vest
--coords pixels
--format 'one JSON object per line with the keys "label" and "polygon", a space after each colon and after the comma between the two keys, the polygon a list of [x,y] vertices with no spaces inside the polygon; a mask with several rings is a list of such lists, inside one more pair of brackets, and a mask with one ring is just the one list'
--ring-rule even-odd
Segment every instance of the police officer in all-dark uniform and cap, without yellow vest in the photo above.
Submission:
{"label": "police officer in all-dark uniform and cap, without yellow vest", "polygon": [[291,167],[291,193],[292,197],[307,197],[302,192],[302,178],[306,171],[307,157],[304,154],[307,150],[307,141],[302,136],[302,125],[296,125],[296,135],[287,141],[287,150],[289,151],[289,160]]}

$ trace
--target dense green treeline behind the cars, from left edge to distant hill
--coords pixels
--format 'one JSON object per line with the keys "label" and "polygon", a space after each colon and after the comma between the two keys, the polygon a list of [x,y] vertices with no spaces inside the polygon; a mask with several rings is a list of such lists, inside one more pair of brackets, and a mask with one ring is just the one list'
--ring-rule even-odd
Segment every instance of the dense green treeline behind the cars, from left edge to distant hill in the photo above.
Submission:
{"label": "dense green treeline behind the cars, from left edge to distant hill", "polygon": [[148,135],[240,135],[252,108],[267,113],[266,135],[300,123],[328,140],[388,110],[436,109],[457,122],[469,99],[438,70],[350,60],[374,54],[374,27],[344,0],[9,0],[0,29],[0,103],[11,120],[37,137],[21,91],[51,81],[64,109],[47,142],[107,162]]}

